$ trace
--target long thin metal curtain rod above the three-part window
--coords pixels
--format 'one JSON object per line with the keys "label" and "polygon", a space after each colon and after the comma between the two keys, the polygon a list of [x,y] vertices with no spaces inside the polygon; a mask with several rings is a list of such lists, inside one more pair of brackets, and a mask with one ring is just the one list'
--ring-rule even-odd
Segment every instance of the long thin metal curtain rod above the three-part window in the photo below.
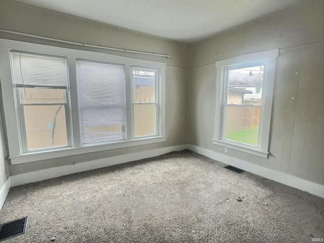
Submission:
{"label": "long thin metal curtain rod above the three-part window", "polygon": [[63,39],[50,38],[50,37],[45,37],[45,36],[40,36],[40,35],[35,35],[35,34],[27,34],[27,33],[22,33],[22,32],[17,32],[17,31],[6,30],[6,29],[0,29],[0,31],[6,32],[6,33],[29,36],[29,37],[35,37],[35,38],[39,38],[39,39],[47,39],[49,41],[67,43],[67,44],[83,46],[83,47],[94,47],[94,48],[107,49],[107,50],[119,51],[119,52],[131,52],[131,53],[138,53],[138,54],[145,54],[145,55],[152,55],[152,56],[159,56],[159,57],[170,57],[170,55],[166,55],[166,54],[158,54],[158,53],[154,53],[154,52],[141,52],[141,51],[119,49],[119,48],[113,48],[113,47],[104,47],[104,46],[89,45],[89,44],[83,44],[83,43],[77,43],[77,42],[69,42],[69,41],[64,41]]}

